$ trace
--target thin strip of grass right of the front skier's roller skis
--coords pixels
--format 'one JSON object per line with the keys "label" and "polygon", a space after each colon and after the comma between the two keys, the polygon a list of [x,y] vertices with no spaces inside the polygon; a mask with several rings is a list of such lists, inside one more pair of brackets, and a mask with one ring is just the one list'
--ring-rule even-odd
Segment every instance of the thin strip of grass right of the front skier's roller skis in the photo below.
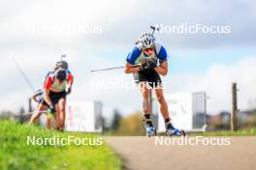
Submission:
{"label": "thin strip of grass right of the front skier's roller skis", "polygon": [[191,133],[189,135],[192,136],[255,136],[256,128],[243,129],[238,131],[214,131],[214,132],[199,132],[199,133]]}

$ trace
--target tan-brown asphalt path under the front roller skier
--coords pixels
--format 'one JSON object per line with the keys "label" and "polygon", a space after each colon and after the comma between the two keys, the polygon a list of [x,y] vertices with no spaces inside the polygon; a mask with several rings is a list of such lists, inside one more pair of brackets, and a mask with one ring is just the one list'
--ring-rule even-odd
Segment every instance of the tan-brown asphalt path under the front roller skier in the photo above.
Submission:
{"label": "tan-brown asphalt path under the front roller skier", "polygon": [[[105,139],[123,160],[123,169],[256,170],[256,136],[212,138],[191,136],[177,141],[177,137],[129,136]],[[210,140],[215,145],[210,145]]]}

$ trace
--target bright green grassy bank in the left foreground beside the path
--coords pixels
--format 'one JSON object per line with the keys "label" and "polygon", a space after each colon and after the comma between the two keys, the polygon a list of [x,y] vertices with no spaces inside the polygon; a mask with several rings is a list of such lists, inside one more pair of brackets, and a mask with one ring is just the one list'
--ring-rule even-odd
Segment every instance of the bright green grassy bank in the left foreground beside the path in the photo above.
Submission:
{"label": "bright green grassy bank in the left foreground beside the path", "polygon": [[76,136],[97,138],[96,134],[57,132],[28,125],[0,121],[0,169],[1,170],[117,170],[120,159],[104,143],[100,146],[27,145],[27,136],[36,138]]}

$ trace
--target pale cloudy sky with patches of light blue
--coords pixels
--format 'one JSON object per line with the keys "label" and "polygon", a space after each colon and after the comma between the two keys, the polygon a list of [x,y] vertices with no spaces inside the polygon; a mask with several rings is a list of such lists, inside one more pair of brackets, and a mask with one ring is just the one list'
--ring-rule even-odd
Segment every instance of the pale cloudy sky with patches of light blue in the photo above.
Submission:
{"label": "pale cloudy sky with patches of light blue", "polygon": [[[228,26],[229,34],[180,34],[168,28],[181,24]],[[159,24],[156,33],[169,53],[167,93],[208,93],[208,112],[231,108],[231,83],[238,82],[239,107],[256,106],[256,2],[212,1],[0,1],[0,110],[16,110],[31,89],[16,69],[22,67],[35,88],[59,59],[68,56],[75,84],[70,100],[102,100],[105,114],[113,108],[139,110],[136,88],[100,89],[95,82],[131,82],[122,70],[87,73],[122,66],[140,34]],[[16,102],[17,101],[17,102]],[[12,104],[16,102],[16,104]]]}

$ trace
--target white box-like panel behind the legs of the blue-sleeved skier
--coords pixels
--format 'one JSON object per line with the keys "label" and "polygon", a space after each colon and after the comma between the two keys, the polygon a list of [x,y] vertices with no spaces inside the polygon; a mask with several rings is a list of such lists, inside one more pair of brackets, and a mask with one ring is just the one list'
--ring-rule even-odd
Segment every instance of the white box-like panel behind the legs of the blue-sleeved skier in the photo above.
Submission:
{"label": "white box-like panel behind the legs of the blue-sleeved skier", "polygon": [[[175,128],[186,131],[205,130],[206,128],[206,93],[176,93],[165,95],[169,114]],[[158,131],[165,131],[165,123],[158,111]]]}

